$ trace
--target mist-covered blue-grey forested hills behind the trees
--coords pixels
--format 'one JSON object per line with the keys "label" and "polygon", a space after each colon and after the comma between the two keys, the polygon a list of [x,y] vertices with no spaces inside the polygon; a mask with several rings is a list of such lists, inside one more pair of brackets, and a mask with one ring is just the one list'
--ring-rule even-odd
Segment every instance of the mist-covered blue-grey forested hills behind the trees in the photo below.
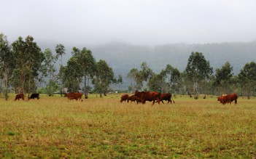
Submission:
{"label": "mist-covered blue-grey forested hills behind the trees", "polygon": [[[63,65],[71,57],[73,46],[63,44],[66,55],[63,57]],[[40,46],[40,44],[39,44]],[[42,50],[47,47],[55,52],[56,44],[43,44]],[[234,75],[244,67],[247,62],[256,61],[256,41],[219,43],[219,44],[164,44],[159,46],[138,46],[125,43],[109,43],[98,46],[86,47],[93,52],[96,60],[105,60],[113,68],[115,76],[123,76],[124,84],[127,73],[132,68],[140,69],[142,62],[147,62],[149,68],[155,73],[166,68],[167,64],[185,70],[187,60],[191,52],[202,52],[206,60],[209,60],[214,72],[216,68],[222,68],[225,62],[230,62]],[[128,84],[128,83],[127,83]]]}

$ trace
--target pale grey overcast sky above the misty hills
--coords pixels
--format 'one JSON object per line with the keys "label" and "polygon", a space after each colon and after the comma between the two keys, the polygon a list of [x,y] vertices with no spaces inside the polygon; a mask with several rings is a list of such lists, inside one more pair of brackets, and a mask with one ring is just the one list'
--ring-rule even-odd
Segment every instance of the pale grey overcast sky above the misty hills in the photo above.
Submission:
{"label": "pale grey overcast sky above the misty hills", "polygon": [[0,0],[9,41],[158,45],[256,40],[255,0]]}

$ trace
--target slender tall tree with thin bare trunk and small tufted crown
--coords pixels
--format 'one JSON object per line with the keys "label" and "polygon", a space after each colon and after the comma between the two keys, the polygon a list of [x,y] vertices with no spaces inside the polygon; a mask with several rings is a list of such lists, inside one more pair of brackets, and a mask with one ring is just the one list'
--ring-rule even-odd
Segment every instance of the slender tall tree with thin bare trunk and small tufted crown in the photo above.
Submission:
{"label": "slender tall tree with thin bare trunk and small tufted crown", "polygon": [[63,44],[57,44],[57,46],[55,47],[55,52],[56,52],[56,57],[57,59],[59,57],[61,57],[61,66],[60,66],[60,72],[59,72],[59,79],[61,80],[61,96],[62,96],[62,91],[63,91],[63,81],[62,81],[62,78],[63,78],[63,72],[62,72],[62,69],[63,68],[63,55],[65,54],[65,47],[63,46]]}

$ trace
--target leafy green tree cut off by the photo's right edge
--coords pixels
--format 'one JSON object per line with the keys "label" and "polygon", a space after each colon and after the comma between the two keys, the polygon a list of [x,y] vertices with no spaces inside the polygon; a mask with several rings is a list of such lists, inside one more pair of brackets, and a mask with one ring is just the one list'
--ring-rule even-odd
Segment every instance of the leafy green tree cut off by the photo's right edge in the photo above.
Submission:
{"label": "leafy green tree cut off by the photo's right edge", "polygon": [[238,73],[241,88],[247,92],[248,99],[251,97],[252,92],[256,91],[256,63],[249,62],[244,65],[244,68]]}

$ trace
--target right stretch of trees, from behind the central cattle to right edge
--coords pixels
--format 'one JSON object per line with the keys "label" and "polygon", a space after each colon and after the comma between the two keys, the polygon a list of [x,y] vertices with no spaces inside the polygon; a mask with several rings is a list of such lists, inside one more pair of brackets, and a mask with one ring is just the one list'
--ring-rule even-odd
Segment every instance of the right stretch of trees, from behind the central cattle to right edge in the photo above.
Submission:
{"label": "right stretch of trees, from behind the central cattle to right edge", "polygon": [[[192,94],[198,99],[198,94],[230,94],[247,95],[250,98],[256,91],[256,63],[244,65],[237,76],[233,74],[230,62],[225,62],[222,68],[217,68],[215,74],[210,62],[203,53],[192,52],[183,72],[171,65],[160,73],[154,73],[142,62],[141,69],[132,68],[127,78],[130,79],[129,91],[144,89],[144,91],[170,92],[173,94]],[[145,87],[144,85],[147,85]]]}

